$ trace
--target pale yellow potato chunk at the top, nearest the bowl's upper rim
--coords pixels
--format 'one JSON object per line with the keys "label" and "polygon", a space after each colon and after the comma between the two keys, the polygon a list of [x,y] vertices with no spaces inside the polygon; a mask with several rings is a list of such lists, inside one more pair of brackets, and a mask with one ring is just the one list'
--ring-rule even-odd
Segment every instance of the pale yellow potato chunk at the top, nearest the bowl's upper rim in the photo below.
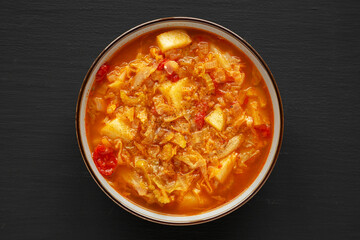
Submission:
{"label": "pale yellow potato chunk at the top, nearest the bowl's upper rim", "polygon": [[173,30],[164,32],[156,37],[162,52],[173,48],[182,48],[191,43],[191,38],[185,31]]}

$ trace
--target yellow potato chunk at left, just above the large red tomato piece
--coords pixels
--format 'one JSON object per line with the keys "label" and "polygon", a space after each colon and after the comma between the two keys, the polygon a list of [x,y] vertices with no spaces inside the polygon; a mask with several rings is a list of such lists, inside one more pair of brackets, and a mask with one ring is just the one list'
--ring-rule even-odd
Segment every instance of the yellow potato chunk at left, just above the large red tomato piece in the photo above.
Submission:
{"label": "yellow potato chunk at left, just above the large red tomato piece", "polygon": [[101,129],[101,134],[112,139],[121,138],[124,141],[131,141],[134,139],[136,132],[125,122],[115,118]]}

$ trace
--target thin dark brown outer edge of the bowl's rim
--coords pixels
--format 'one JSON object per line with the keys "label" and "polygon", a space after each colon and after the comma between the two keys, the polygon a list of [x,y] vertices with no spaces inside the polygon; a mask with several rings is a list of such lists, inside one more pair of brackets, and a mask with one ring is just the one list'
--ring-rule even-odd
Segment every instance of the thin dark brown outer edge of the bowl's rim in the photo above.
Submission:
{"label": "thin dark brown outer edge of the bowl's rim", "polygon": [[[262,180],[261,183],[259,183],[259,185],[252,191],[252,193],[246,198],[244,199],[244,201],[242,201],[241,203],[239,203],[237,206],[229,209],[228,211],[217,215],[217,216],[213,216],[207,219],[202,219],[202,220],[197,220],[197,221],[192,221],[192,222],[182,222],[182,223],[174,223],[174,222],[167,222],[167,221],[161,221],[158,219],[152,219],[150,217],[141,215],[138,212],[135,212],[129,208],[127,208],[125,205],[123,205],[119,200],[117,200],[115,197],[113,197],[108,190],[100,183],[100,180],[96,177],[96,175],[94,174],[92,168],[90,167],[88,160],[86,158],[85,155],[85,150],[83,147],[83,142],[81,140],[81,133],[80,133],[80,105],[81,102],[83,100],[83,95],[84,95],[84,90],[85,90],[85,86],[87,85],[88,81],[89,81],[89,77],[94,69],[94,67],[96,66],[96,64],[98,63],[98,61],[101,59],[101,57],[113,46],[115,45],[119,40],[121,40],[122,38],[124,38],[125,36],[131,34],[132,32],[139,30],[141,28],[144,28],[146,26],[158,23],[158,22],[171,22],[171,21],[192,21],[192,22],[198,22],[198,23],[203,23],[206,25],[210,25],[211,27],[215,27],[218,28],[230,35],[232,35],[234,38],[236,38],[238,41],[240,41],[242,44],[244,44],[254,55],[256,58],[258,58],[258,60],[260,61],[260,63],[262,64],[262,66],[264,67],[265,71],[267,72],[267,74],[270,77],[270,80],[273,84],[274,90],[276,92],[276,97],[279,103],[279,113],[280,113],[280,132],[279,132],[279,142],[278,145],[276,147],[276,151],[274,154],[274,158],[272,159],[272,163],[270,165],[270,167],[267,169],[266,175],[264,177],[264,179]],[[159,223],[159,224],[164,224],[164,225],[173,225],[173,226],[186,226],[186,225],[196,225],[196,224],[201,224],[201,223],[206,223],[206,222],[210,222],[216,219],[219,219],[221,217],[224,217],[232,212],[234,212],[235,210],[239,209],[240,207],[242,207],[244,204],[246,204],[253,196],[256,195],[256,193],[262,188],[262,186],[265,184],[265,182],[267,181],[267,179],[269,178],[271,172],[274,169],[274,166],[276,164],[276,161],[279,157],[279,153],[280,153],[280,149],[281,149],[281,145],[282,145],[282,141],[283,141],[283,133],[284,133],[284,110],[283,110],[283,104],[282,104],[282,100],[281,100],[281,96],[280,96],[280,91],[279,88],[276,84],[276,81],[274,79],[273,74],[271,73],[269,67],[267,66],[267,64],[265,63],[265,61],[262,59],[262,57],[260,56],[260,54],[247,42],[245,41],[242,37],[240,37],[239,35],[237,35],[235,32],[229,30],[228,28],[219,25],[217,23],[208,21],[208,20],[204,20],[204,19],[200,19],[200,18],[194,18],[194,17],[183,17],[183,16],[179,16],[179,17],[165,17],[165,18],[158,18],[158,19],[154,19],[142,24],[139,24],[129,30],[127,30],[126,32],[124,32],[123,34],[121,34],[120,36],[118,36],[117,38],[115,38],[112,42],[110,42],[102,51],[101,53],[95,58],[95,60],[93,61],[93,63],[91,64],[89,70],[87,71],[84,80],[81,84],[80,90],[79,90],[79,94],[78,94],[78,98],[77,98],[77,103],[76,103],[76,111],[75,111],[75,128],[76,128],[76,138],[77,138],[77,142],[78,142],[78,146],[81,152],[81,156],[82,159],[85,163],[86,168],[88,169],[91,177],[94,179],[94,181],[96,182],[96,184],[99,186],[99,188],[113,201],[115,202],[118,206],[120,206],[121,208],[123,208],[124,210],[126,210],[127,212],[150,222],[154,222],[154,223]],[[145,209],[145,208],[144,208]],[[146,209],[145,209],[146,210]],[[210,210],[211,211],[211,210]]]}

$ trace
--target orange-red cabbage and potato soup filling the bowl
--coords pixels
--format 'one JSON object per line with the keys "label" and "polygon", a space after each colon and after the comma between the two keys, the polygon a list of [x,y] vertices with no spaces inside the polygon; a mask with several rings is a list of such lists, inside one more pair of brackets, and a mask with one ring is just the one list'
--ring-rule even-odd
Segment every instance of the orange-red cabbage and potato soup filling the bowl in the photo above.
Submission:
{"label": "orange-red cabbage and potato soup filling the bowl", "polygon": [[257,68],[235,46],[202,30],[162,29],[99,68],[85,124],[98,171],[123,197],[194,215],[255,180],[273,109]]}

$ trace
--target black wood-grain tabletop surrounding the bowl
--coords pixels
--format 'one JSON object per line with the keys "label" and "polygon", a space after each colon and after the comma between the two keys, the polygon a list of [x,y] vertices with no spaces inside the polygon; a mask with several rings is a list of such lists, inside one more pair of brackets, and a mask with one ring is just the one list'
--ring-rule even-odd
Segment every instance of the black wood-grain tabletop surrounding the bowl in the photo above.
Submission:
{"label": "black wood-grain tabletop surrounding the bowl", "polygon": [[[273,72],[285,133],[275,169],[245,206],[211,223],[141,220],[98,188],[75,106],[102,49],[167,16],[246,39]],[[358,1],[1,1],[1,239],[359,239]]]}

